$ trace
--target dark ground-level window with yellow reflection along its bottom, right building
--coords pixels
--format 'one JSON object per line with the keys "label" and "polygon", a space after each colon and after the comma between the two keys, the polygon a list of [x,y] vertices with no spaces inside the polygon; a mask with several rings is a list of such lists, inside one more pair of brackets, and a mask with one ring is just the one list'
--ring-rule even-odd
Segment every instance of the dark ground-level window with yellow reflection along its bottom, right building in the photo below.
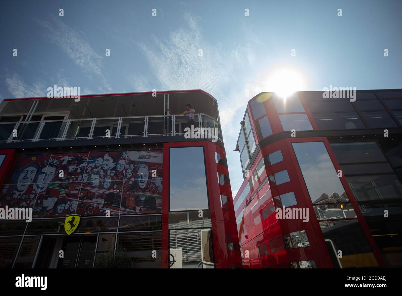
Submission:
{"label": "dark ground-level window with yellow reflection along its bottom, right building", "polygon": [[[357,219],[320,222],[334,267],[378,267],[377,260]],[[338,258],[338,250],[342,257]],[[337,258],[337,259],[336,259]]]}

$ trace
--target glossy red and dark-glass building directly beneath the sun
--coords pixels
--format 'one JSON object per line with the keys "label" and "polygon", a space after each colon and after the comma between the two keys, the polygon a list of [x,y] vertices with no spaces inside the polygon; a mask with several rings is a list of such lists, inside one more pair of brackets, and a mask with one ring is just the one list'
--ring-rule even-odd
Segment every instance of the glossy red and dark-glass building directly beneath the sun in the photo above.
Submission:
{"label": "glossy red and dark-glass building directly beneath the sun", "polygon": [[401,90],[252,98],[236,143],[244,267],[402,266],[401,118]]}

